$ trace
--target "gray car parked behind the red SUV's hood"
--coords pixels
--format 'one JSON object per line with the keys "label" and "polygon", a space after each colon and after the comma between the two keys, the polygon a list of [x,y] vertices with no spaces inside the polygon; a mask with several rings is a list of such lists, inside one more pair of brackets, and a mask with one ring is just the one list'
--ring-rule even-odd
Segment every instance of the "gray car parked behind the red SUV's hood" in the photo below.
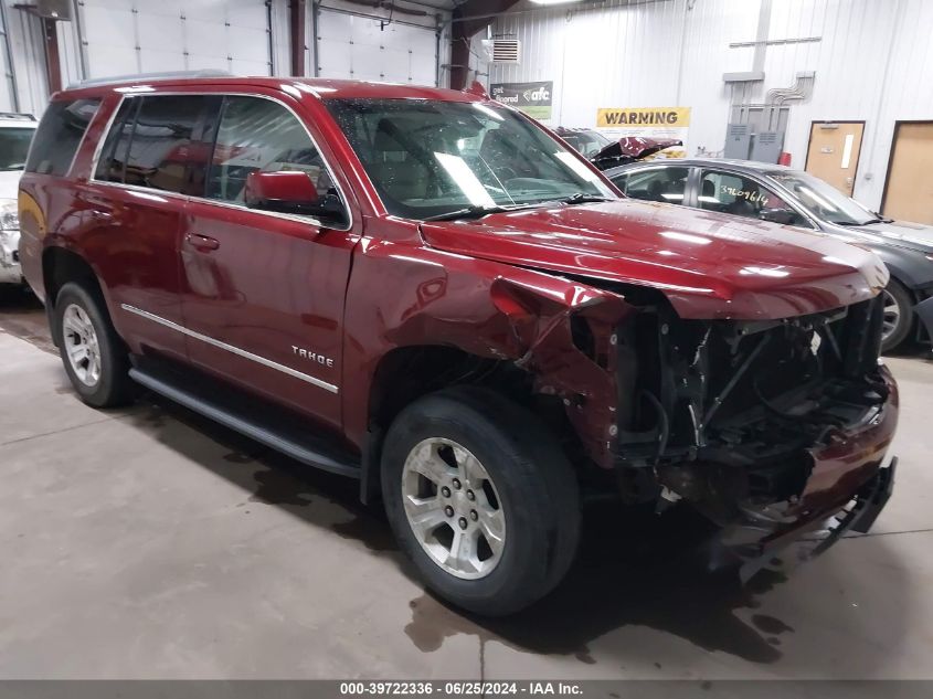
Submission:
{"label": "gray car parked behind the red SUV's hood", "polygon": [[807,172],[764,162],[653,160],[605,174],[635,199],[812,229],[869,247],[891,273],[883,349],[930,339],[918,319],[933,316],[933,226],[884,219]]}

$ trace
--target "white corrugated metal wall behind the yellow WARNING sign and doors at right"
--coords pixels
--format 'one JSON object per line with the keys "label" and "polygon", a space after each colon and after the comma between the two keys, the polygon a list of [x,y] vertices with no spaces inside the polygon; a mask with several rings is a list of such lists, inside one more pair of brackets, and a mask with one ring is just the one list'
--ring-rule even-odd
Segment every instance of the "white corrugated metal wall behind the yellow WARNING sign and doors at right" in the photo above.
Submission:
{"label": "white corrugated metal wall behind the yellow WARNING sign and doors at right", "polygon": [[[751,71],[761,0],[608,0],[597,7],[532,9],[499,18],[494,34],[522,42],[518,66],[477,65],[488,82],[554,81],[552,124],[593,126],[598,107],[692,107],[688,150],[722,149],[731,89],[723,73]],[[877,208],[897,119],[933,119],[933,2],[773,0],[764,83],[788,87],[816,71],[809,102],[791,107],[785,150],[806,158],[812,120],[865,120],[856,198]],[[481,53],[478,41],[477,53]]]}

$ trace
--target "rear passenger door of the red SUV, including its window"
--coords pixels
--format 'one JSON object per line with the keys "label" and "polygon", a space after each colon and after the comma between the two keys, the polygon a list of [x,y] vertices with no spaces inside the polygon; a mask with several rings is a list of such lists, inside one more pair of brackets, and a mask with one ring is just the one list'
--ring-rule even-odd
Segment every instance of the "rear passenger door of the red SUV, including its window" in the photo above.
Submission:
{"label": "rear passenger door of the red SUV, including its window", "polygon": [[106,254],[98,266],[136,352],[184,358],[179,252],[184,189],[204,98],[124,99],[82,197]]}

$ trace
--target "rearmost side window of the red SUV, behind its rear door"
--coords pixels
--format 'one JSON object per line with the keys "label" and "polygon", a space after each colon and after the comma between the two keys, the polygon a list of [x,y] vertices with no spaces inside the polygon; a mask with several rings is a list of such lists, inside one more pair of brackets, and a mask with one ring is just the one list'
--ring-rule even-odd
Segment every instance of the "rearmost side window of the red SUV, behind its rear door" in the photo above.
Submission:
{"label": "rearmost side window of the red SUV, behind its rear door", "polygon": [[49,105],[35,133],[26,172],[64,176],[84,138],[91,119],[100,106],[99,99],[53,102]]}

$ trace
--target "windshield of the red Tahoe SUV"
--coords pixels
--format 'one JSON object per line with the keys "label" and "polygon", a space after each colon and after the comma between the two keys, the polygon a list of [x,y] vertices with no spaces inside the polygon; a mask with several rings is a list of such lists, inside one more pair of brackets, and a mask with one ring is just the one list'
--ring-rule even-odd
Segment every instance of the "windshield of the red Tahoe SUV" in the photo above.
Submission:
{"label": "windshield of the red Tahoe SUV", "polygon": [[409,219],[465,206],[616,199],[598,174],[508,109],[428,99],[328,99],[386,210]]}

